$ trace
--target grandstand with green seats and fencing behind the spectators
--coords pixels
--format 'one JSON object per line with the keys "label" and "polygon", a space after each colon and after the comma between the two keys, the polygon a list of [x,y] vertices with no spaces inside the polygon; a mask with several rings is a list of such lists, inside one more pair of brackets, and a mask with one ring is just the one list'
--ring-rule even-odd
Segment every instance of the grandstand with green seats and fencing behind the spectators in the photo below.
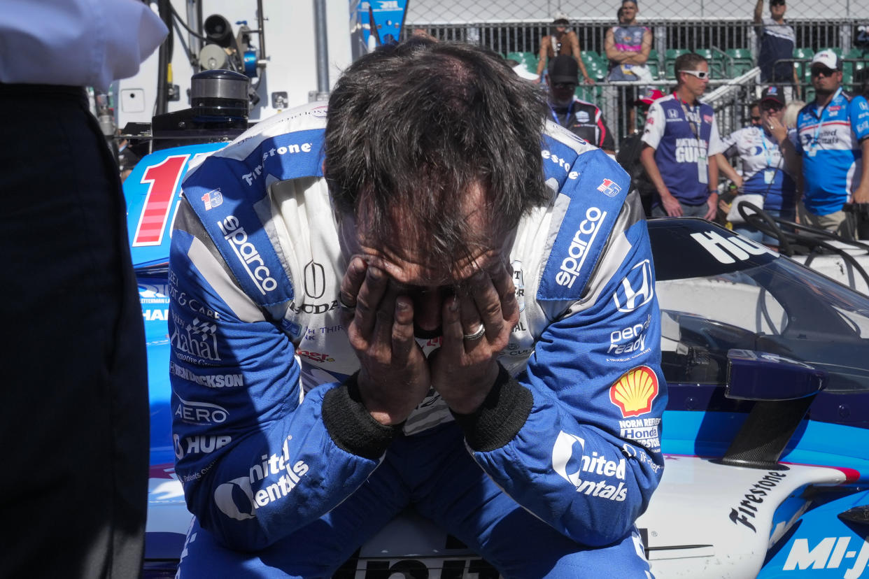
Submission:
{"label": "grandstand with green seats and fencing behind the spectators", "polygon": [[[556,6],[557,4],[557,6]],[[602,99],[608,91],[602,90],[607,74],[607,58],[603,53],[607,29],[616,24],[618,2],[523,2],[503,0],[495,3],[459,0],[438,0],[437,3],[415,0],[409,4],[405,21],[406,33],[422,29],[436,38],[460,40],[488,46],[508,58],[514,58],[532,72],[537,67],[537,49],[541,37],[549,34],[552,12],[569,16],[572,30],[580,37],[582,59],[591,76],[597,80],[594,87],[580,86],[577,95],[596,102],[606,109]],[[764,14],[768,3],[765,1]],[[673,61],[680,53],[699,52],[710,63],[713,81],[704,100],[710,102],[718,119],[721,134],[726,135],[746,124],[746,103],[760,94],[760,71],[755,67],[758,31],[755,29],[753,3],[746,2],[734,13],[733,3],[659,2],[641,0],[640,24],[653,31],[653,50],[648,66],[655,82],[638,82],[640,86],[654,86],[665,92],[675,84]],[[833,3],[790,0],[787,23],[793,26],[797,49],[793,51],[793,64],[799,73],[804,99],[811,100],[811,87],[807,63],[819,49],[832,48],[845,58],[843,84],[847,90],[862,92],[869,84],[869,2],[833,0]],[[630,83],[617,82],[620,90]],[[623,102],[623,101],[622,101]],[[627,127],[627,115],[606,119],[617,141],[633,130]]]}

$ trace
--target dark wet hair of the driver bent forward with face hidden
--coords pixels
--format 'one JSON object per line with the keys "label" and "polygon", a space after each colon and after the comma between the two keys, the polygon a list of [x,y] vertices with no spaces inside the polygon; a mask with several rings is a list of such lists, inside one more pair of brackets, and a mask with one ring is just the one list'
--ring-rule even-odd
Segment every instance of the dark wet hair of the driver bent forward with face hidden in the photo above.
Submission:
{"label": "dark wet hair of the driver bent forward with face hidden", "polygon": [[[550,199],[544,95],[488,49],[422,39],[383,47],[350,65],[328,105],[324,174],[339,216],[364,217],[369,245],[401,233],[432,267],[453,271]],[[484,232],[463,211],[475,185]]]}

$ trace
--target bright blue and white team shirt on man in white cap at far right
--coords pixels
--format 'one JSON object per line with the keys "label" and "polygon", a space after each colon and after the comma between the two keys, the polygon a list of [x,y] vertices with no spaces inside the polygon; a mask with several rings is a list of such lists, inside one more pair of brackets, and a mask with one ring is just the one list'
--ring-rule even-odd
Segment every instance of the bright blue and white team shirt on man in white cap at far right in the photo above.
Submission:
{"label": "bright blue and white team shirt on man in white cap at far right", "polygon": [[869,103],[839,91],[826,109],[810,102],[797,117],[797,152],[803,159],[803,202],[816,215],[841,210],[859,186],[863,153],[869,137]]}

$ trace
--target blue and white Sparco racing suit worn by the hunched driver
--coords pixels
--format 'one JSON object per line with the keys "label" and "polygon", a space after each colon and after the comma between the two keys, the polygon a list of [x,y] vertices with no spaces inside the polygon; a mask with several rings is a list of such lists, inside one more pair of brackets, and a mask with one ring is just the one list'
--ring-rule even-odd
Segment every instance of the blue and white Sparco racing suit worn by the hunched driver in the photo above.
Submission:
{"label": "blue and white Sparco racing suit worn by the hunched driver", "polygon": [[627,174],[547,125],[552,199],[514,234],[521,314],[498,383],[473,415],[433,391],[390,428],[347,385],[359,365],[338,306],[350,256],[322,178],[325,115],[259,123],[183,182],[170,372],[196,521],[182,576],[329,576],[408,504],[505,576],[647,576],[634,520],[662,473],[667,386]]}

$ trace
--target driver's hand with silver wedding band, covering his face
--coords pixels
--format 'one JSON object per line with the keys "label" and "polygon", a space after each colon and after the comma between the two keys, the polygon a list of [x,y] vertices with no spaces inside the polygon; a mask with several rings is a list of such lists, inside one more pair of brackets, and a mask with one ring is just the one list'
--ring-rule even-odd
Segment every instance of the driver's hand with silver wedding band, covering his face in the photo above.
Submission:
{"label": "driver's hand with silver wedding band, covering his face", "polygon": [[[498,354],[519,322],[519,305],[505,264],[494,272],[475,273],[462,290],[443,304],[443,341],[429,357],[429,368],[432,386],[444,402],[455,412],[470,414],[498,377]],[[481,338],[465,338],[481,325]]]}

